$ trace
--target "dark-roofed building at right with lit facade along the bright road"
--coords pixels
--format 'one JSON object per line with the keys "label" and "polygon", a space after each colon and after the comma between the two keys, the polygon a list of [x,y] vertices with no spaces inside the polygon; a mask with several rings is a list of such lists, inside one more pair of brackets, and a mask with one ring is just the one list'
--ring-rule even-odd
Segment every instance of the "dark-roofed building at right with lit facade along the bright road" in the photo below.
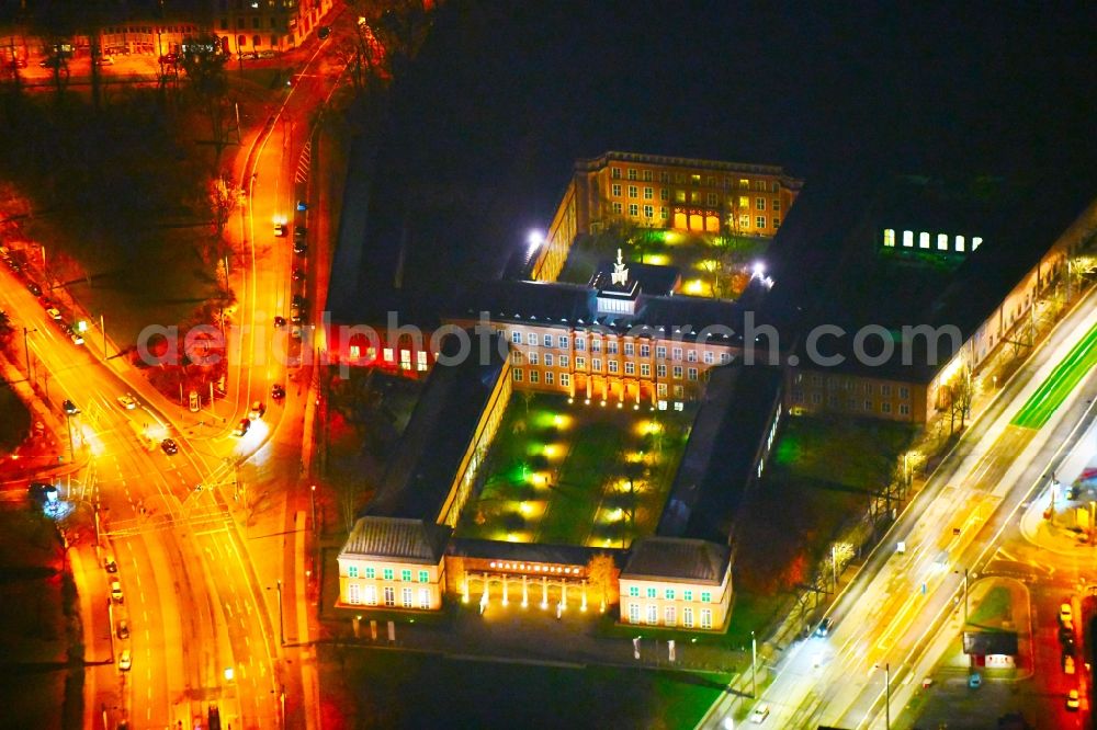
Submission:
{"label": "dark-roofed building at right with lit facade along the bright road", "polygon": [[[1097,227],[1097,203],[1067,184],[895,176],[868,196],[805,191],[768,254],[768,304],[785,307],[779,329],[796,342],[789,409],[924,423],[992,387],[981,368],[1031,346]],[[805,284],[813,255],[827,274]]]}

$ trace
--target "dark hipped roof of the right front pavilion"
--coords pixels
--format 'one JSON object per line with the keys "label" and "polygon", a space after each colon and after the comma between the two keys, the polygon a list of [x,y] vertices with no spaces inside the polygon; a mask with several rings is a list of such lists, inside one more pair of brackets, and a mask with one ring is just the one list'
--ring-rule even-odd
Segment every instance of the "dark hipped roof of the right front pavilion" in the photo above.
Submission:
{"label": "dark hipped roof of the right front pavilion", "polygon": [[643,537],[632,544],[622,578],[712,583],[724,580],[732,550],[726,545],[675,537]]}

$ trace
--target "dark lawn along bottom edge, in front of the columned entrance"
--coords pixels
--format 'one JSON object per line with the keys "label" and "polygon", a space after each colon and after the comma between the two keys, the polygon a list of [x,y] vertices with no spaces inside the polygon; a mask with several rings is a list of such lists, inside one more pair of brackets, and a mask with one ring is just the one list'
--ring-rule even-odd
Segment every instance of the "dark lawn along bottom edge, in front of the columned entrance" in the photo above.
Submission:
{"label": "dark lawn along bottom edge, in front of the columned entrance", "polygon": [[342,680],[346,728],[692,728],[727,680],[342,647],[321,648],[320,661]]}

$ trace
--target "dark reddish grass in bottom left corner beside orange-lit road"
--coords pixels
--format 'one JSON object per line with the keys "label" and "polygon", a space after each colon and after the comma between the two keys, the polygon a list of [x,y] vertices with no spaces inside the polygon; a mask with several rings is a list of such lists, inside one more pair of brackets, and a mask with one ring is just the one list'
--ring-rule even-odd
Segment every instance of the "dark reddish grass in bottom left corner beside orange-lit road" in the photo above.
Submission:
{"label": "dark reddish grass in bottom left corner beside orange-lit road", "polygon": [[68,674],[63,569],[60,545],[45,517],[22,506],[0,509],[0,704],[4,708],[0,725],[4,727],[63,725]]}

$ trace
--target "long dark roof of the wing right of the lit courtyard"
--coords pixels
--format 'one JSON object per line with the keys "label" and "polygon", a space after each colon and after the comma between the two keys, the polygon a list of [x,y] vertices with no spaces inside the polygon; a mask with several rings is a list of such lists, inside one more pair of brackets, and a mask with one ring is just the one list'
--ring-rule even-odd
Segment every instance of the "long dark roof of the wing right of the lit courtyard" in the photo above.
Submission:
{"label": "long dark roof of the wing right of the lit courtyard", "polygon": [[733,363],[709,370],[656,533],[727,543],[781,393],[781,372]]}

